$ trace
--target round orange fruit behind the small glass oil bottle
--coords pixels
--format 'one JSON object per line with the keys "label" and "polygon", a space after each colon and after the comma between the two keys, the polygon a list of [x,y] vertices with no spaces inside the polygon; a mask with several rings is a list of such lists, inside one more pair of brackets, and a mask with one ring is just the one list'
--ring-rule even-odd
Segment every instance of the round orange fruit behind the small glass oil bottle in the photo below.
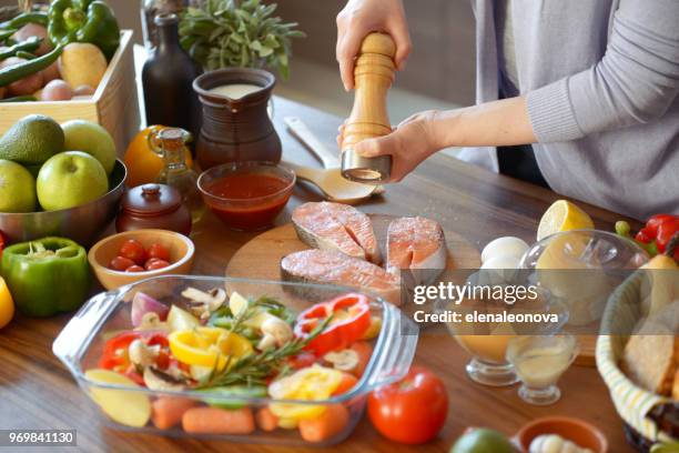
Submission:
{"label": "round orange fruit behind the small glass oil bottle", "polygon": [[[154,182],[158,174],[163,170],[165,165],[163,157],[154,151],[149,140],[151,133],[158,133],[163,129],[165,129],[164,125],[152,125],[142,130],[130,142],[123,158],[123,162],[128,168],[128,187],[134,188]],[[186,149],[185,158],[186,167],[192,167],[193,160],[189,149]]]}

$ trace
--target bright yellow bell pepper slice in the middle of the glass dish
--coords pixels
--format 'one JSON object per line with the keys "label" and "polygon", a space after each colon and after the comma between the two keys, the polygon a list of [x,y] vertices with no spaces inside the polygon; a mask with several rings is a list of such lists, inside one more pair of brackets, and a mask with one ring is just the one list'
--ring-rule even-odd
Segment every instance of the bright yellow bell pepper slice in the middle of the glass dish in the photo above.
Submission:
{"label": "bright yellow bell pepper slice in the middle of the glass dish", "polygon": [[253,353],[252,343],[237,333],[220,328],[195,328],[172,332],[170,351],[188,365],[216,368],[222,371],[226,363],[234,364],[239,359]]}

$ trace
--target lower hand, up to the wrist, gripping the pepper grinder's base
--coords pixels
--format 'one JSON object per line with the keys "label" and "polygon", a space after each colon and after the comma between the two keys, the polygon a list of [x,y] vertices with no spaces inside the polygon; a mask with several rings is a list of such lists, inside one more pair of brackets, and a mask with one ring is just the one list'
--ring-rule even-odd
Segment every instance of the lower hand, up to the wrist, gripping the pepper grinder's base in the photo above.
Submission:
{"label": "lower hand, up to the wrist, gripping the pepper grinder's base", "polygon": [[[442,148],[435,137],[433,123],[439,112],[429,110],[415,113],[404,120],[388,135],[366,139],[354,145],[354,151],[365,158],[392,155],[392,177],[388,182],[398,182],[429,155]],[[337,144],[342,148],[344,125],[340,128]]]}

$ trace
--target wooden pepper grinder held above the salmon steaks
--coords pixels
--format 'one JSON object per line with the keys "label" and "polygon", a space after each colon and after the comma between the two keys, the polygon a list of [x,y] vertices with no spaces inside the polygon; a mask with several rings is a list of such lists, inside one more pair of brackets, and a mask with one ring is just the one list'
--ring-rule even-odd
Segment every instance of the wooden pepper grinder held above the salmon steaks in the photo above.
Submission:
{"label": "wooden pepper grinder held above the salmon steaks", "polygon": [[342,140],[342,175],[351,181],[377,184],[391,175],[391,155],[363,158],[353,147],[392,132],[386,97],[394,82],[395,54],[396,44],[385,33],[371,33],[361,44],[354,69],[354,107]]}

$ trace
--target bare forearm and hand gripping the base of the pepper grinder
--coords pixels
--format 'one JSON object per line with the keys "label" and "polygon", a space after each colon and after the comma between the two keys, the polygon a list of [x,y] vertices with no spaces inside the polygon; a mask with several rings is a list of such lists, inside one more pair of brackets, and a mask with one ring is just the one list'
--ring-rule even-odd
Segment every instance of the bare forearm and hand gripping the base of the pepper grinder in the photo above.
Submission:
{"label": "bare forearm and hand gripping the base of the pepper grinder", "polygon": [[[337,142],[342,148],[342,129]],[[391,154],[392,180],[401,181],[423,160],[448,147],[498,147],[536,141],[524,97],[465,109],[416,113],[385,137],[364,140],[365,157]]]}

